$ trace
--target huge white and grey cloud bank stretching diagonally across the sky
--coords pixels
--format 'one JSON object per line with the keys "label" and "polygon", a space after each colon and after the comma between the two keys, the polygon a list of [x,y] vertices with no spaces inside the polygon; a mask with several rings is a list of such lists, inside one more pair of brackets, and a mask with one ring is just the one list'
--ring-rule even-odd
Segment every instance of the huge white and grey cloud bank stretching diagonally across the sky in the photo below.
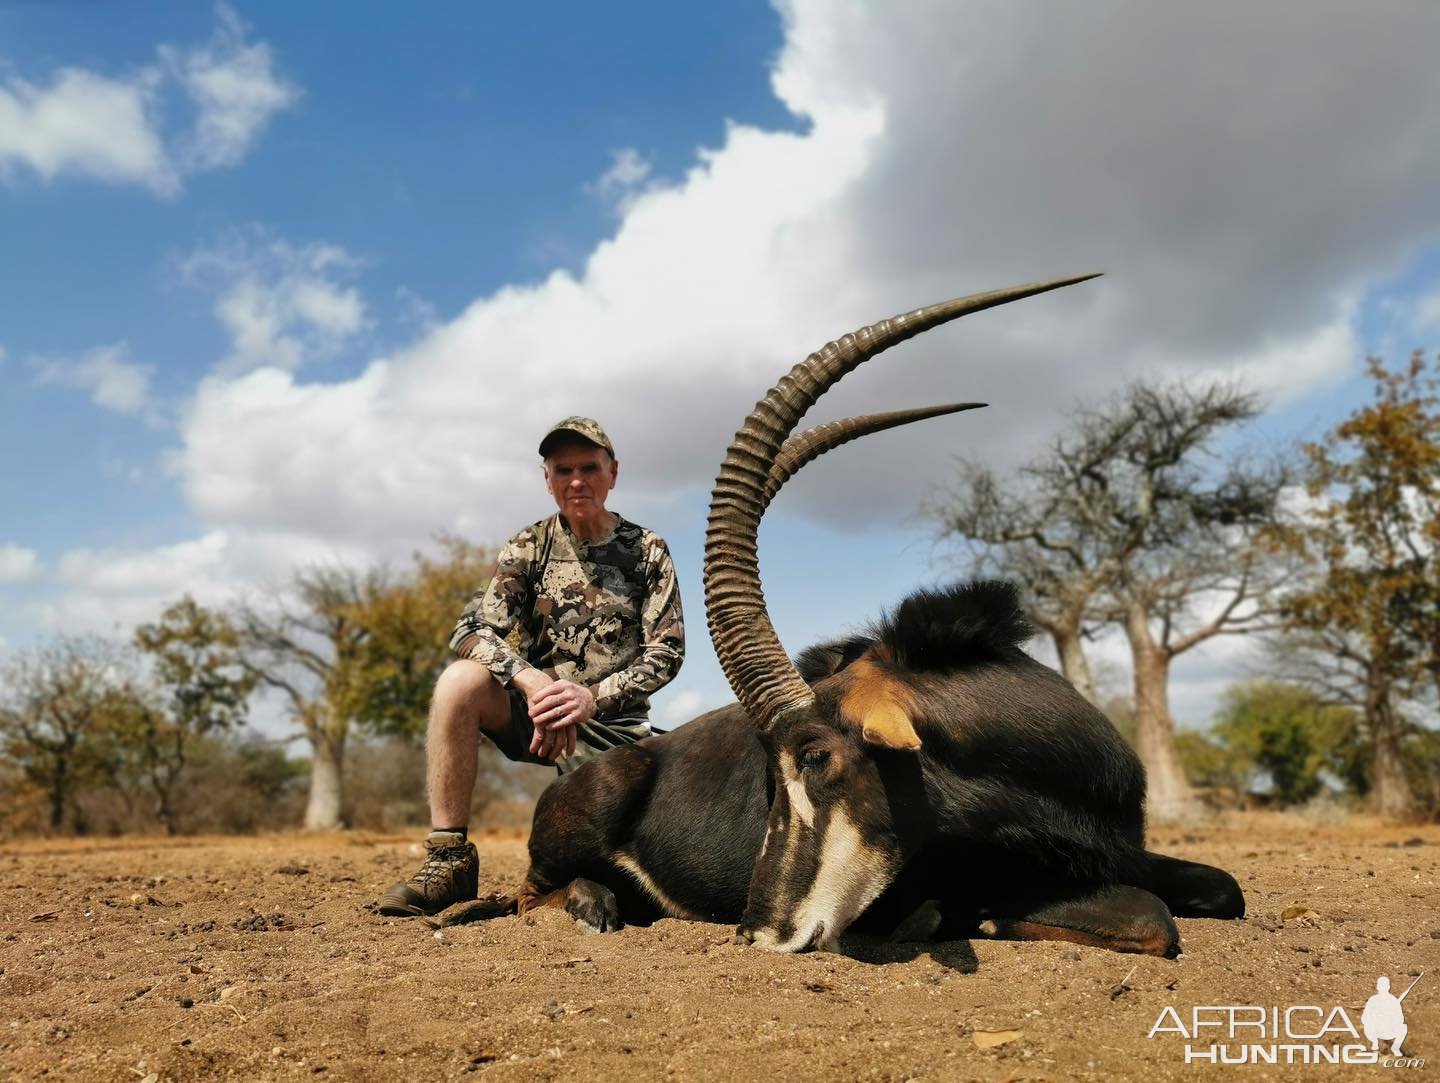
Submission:
{"label": "huge white and grey cloud bank stretching diagonally across the sky", "polygon": [[1440,222],[1433,4],[976,1],[956,20],[939,0],[795,0],[783,16],[775,88],[805,131],[732,124],[670,184],[626,163],[616,181],[642,190],[579,274],[478,298],[359,376],[297,372],[364,327],[344,252],[251,236],[192,261],[235,344],[173,464],[228,539],[223,579],[301,553],[403,556],[436,529],[498,540],[544,511],[534,439],[567,413],[615,438],[619,510],[672,514],[757,395],[828,338],[1107,271],[903,346],[815,412],[994,403],[840,451],[776,510],[894,523],[952,455],[1028,457],[1077,397],[1155,369],[1328,386],[1359,361],[1355,298]]}

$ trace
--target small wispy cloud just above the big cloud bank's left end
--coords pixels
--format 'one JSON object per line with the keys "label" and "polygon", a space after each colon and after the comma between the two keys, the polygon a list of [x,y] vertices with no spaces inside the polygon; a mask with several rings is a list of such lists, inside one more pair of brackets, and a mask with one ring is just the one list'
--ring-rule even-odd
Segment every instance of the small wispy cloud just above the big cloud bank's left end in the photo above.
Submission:
{"label": "small wispy cloud just above the big cloud bank's left end", "polygon": [[220,369],[235,374],[297,369],[333,356],[361,331],[364,301],[343,281],[357,266],[336,245],[291,245],[251,229],[192,253],[181,274],[216,294],[215,314],[232,343]]}

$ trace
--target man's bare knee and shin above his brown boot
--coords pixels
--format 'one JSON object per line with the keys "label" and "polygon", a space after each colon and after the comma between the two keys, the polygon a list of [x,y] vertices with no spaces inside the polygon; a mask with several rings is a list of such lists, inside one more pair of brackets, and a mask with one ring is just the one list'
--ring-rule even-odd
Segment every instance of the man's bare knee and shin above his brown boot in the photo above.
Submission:
{"label": "man's bare knee and shin above his brown boot", "polygon": [[425,732],[431,827],[469,824],[480,732],[500,729],[508,722],[510,697],[480,662],[459,658],[435,681],[431,722]]}

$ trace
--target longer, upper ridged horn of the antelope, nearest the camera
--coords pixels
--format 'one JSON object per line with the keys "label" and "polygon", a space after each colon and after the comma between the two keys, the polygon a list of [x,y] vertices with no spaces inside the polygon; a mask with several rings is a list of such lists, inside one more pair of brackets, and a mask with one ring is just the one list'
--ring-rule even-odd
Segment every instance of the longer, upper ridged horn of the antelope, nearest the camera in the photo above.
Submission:
{"label": "longer, upper ridged horn of the antelope, nearest the camera", "polygon": [[1061,278],[945,301],[883,320],[828,343],[796,364],[755,405],[736,432],[710,493],[706,524],[706,618],[710,638],[736,697],[762,730],[785,710],[812,703],[780,647],[760,589],[756,534],[766,482],[786,436],[815,400],[845,374],[906,338],[969,313],[994,308],[1096,275]]}

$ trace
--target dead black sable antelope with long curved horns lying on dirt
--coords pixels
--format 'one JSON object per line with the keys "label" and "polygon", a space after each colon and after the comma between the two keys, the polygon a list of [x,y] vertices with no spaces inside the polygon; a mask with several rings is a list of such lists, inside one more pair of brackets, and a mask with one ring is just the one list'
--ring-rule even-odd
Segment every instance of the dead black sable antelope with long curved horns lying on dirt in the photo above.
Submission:
{"label": "dead black sable antelope with long curved horns lying on dirt", "polygon": [[[1090,275],[1084,277],[1090,278]],[[871,634],[792,664],[760,593],[756,531],[802,465],[880,428],[976,403],[791,436],[857,366],[968,313],[1084,281],[978,294],[861,328],[796,364],[724,457],[706,611],[739,703],[557,779],[536,806],[514,906],[615,929],[740,922],[775,951],[845,929],[1058,939],[1174,956],[1172,916],[1237,917],[1234,878],[1151,854],[1145,776],[1110,722],[1025,655],[1008,583],[912,595]]]}

